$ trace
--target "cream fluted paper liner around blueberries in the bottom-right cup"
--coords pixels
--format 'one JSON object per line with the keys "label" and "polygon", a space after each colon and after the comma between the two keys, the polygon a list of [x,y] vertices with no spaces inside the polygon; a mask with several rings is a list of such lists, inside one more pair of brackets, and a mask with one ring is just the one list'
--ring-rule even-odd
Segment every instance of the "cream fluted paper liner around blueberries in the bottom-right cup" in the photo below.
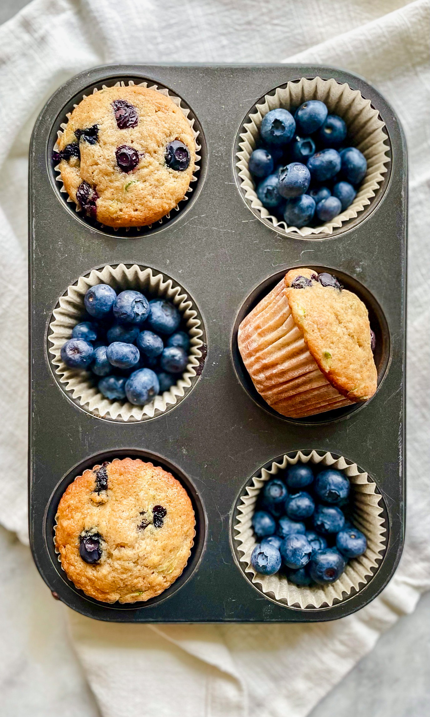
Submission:
{"label": "cream fluted paper liner around blueberries in the bottom-right cup", "polygon": [[[269,478],[277,475],[297,462],[324,465],[341,470],[350,482],[353,502],[353,523],[365,534],[367,549],[358,558],[348,561],[345,572],[338,580],[329,585],[315,585],[313,587],[298,587],[289,582],[284,574],[261,575],[251,565],[250,559],[257,539],[252,530],[252,516],[260,490]],[[334,457],[327,452],[319,455],[315,450],[310,455],[297,451],[292,458],[285,455],[282,462],[273,462],[270,470],[262,469],[261,475],[252,479],[239,499],[236,516],[234,518],[234,540],[238,544],[238,551],[242,554],[239,562],[243,565],[244,573],[251,576],[267,597],[288,607],[301,609],[315,609],[331,607],[342,602],[368,584],[381,565],[386,551],[388,525],[383,517],[383,499],[378,492],[376,483],[367,473],[361,473],[355,463],[351,463],[343,456]]]}

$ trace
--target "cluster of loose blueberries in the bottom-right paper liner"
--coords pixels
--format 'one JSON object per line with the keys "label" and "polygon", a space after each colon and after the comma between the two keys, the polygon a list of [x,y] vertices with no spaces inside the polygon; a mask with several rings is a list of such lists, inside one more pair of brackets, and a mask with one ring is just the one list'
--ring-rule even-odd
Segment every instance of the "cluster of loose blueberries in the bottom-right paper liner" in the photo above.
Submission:
{"label": "cluster of loose blueberries in the bottom-right paper liner", "polygon": [[348,560],[367,547],[363,533],[345,518],[349,493],[349,480],[339,470],[314,475],[303,463],[269,480],[252,517],[260,541],[251,555],[254,570],[274,575],[282,569],[303,586],[337,580]]}

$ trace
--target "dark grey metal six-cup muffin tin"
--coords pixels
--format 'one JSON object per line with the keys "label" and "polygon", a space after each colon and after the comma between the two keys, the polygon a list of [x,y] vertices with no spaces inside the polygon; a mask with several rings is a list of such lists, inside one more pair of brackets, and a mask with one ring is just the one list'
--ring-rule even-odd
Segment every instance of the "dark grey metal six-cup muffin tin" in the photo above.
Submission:
{"label": "dark grey metal six-cup muffin tin", "polygon": [[[371,101],[383,121],[391,163],[368,207],[330,237],[281,236],[259,219],[240,189],[236,151],[244,118],[259,98],[300,77],[334,77]],[[201,162],[191,198],[168,222],[143,232],[92,226],[66,204],[50,161],[74,98],[115,82],[167,87],[191,108]],[[370,602],[393,575],[404,532],[404,361],[406,144],[381,95],[330,67],[98,67],[72,78],[39,115],[30,149],[29,531],[37,567],[54,597],[114,622],[309,622],[335,619]],[[194,389],[168,413],[118,422],[83,411],[49,366],[52,311],[79,276],[105,265],[138,264],[172,277],[199,307],[207,356]],[[291,267],[325,267],[365,301],[378,338],[379,386],[360,407],[297,421],[253,394],[236,346],[239,321]],[[373,578],[332,607],[300,609],[265,596],[244,574],[234,539],[246,485],[282,455],[331,452],[368,473],[383,498],[386,551]],[[54,551],[54,516],[67,485],[113,457],[142,457],[176,475],[194,502],[196,538],[182,576],[146,603],[107,605],[67,580]]]}

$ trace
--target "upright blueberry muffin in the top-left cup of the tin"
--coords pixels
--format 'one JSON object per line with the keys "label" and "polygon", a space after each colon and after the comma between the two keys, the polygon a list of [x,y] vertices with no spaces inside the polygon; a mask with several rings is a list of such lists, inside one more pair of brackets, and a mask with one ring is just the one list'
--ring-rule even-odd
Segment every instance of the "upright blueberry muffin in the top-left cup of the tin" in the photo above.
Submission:
{"label": "upright blueberry muffin in the top-left cup of the tin", "polygon": [[156,222],[186,194],[196,151],[171,98],[146,87],[108,87],[82,100],[60,136],[65,189],[108,227]]}

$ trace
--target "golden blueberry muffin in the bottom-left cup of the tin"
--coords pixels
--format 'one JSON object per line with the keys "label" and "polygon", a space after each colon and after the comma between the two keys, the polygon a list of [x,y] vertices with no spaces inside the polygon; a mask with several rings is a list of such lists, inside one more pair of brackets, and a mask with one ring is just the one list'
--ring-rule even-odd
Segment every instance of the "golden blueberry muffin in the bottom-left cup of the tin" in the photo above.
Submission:
{"label": "golden blueberry muffin in the bottom-left cup of the tin", "polygon": [[77,588],[102,602],[156,597],[181,575],[195,535],[181,483],[124,458],[85,470],[59,501],[55,546]]}

